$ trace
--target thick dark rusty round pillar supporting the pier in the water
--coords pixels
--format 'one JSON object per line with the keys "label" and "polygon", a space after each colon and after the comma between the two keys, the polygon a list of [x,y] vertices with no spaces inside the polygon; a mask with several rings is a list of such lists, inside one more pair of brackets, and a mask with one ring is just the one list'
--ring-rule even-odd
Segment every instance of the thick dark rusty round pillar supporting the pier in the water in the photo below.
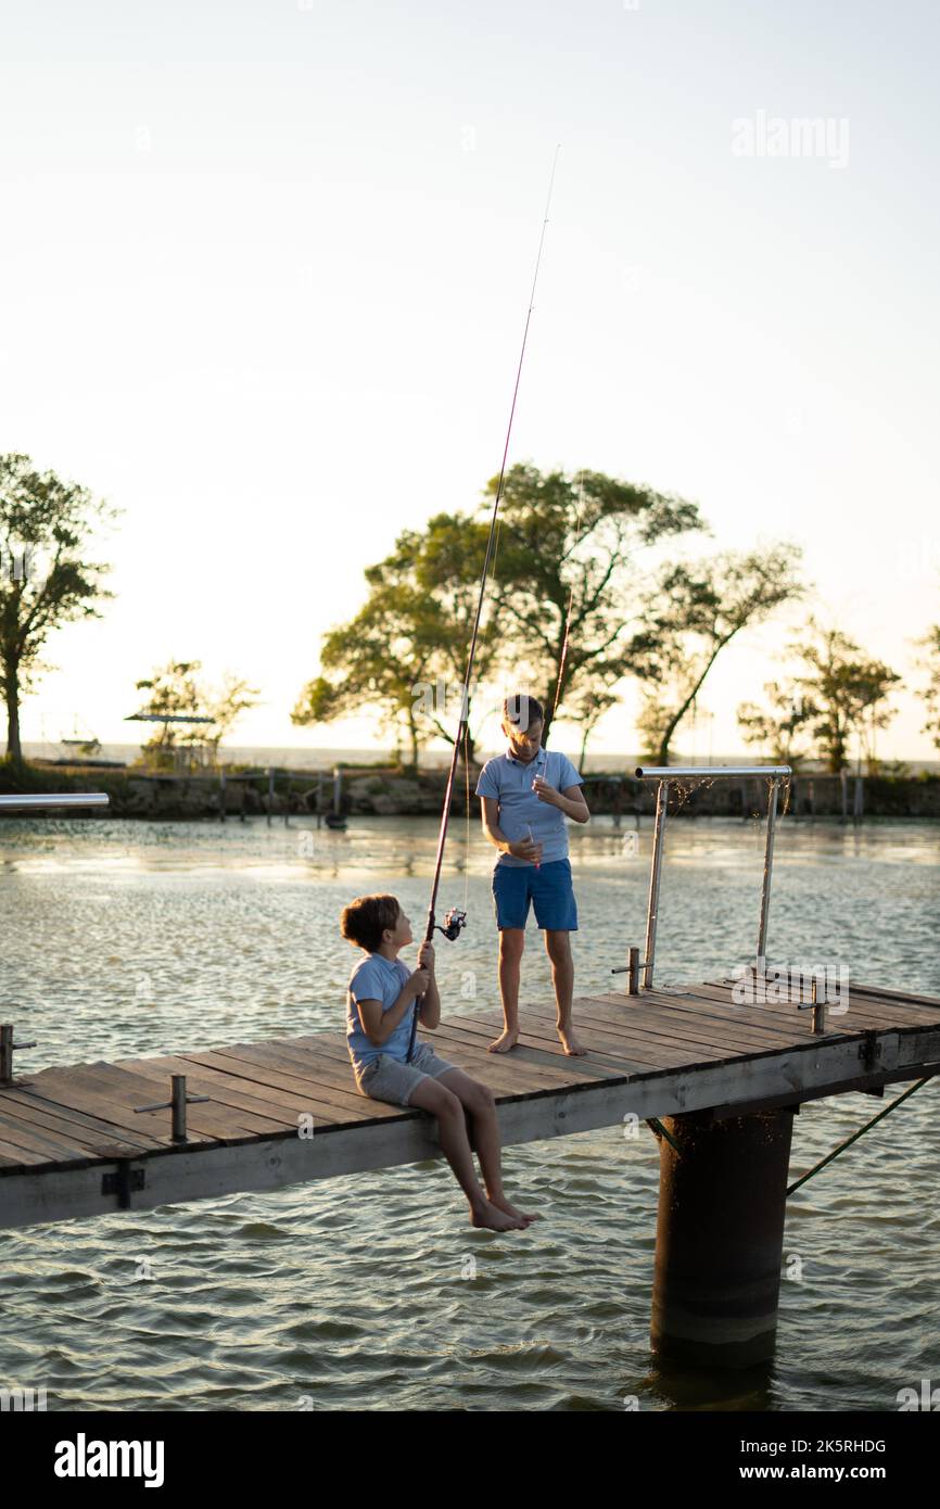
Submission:
{"label": "thick dark rusty round pillar supporting the pier in the water", "polygon": [[[664,1117],[650,1345],[751,1367],[774,1352],[792,1108]],[[677,1150],[676,1150],[677,1148]]]}

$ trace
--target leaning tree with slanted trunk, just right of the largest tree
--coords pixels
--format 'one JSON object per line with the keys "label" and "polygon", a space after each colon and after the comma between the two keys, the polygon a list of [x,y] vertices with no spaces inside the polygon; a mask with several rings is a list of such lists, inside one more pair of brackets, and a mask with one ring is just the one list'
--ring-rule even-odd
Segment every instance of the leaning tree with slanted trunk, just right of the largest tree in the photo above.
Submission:
{"label": "leaning tree with slanted trunk, just right of the largest tree", "polygon": [[693,708],[721,650],[744,628],[798,598],[801,551],[777,543],[668,563],[644,596],[629,662],[643,682],[638,729],[658,765]]}

